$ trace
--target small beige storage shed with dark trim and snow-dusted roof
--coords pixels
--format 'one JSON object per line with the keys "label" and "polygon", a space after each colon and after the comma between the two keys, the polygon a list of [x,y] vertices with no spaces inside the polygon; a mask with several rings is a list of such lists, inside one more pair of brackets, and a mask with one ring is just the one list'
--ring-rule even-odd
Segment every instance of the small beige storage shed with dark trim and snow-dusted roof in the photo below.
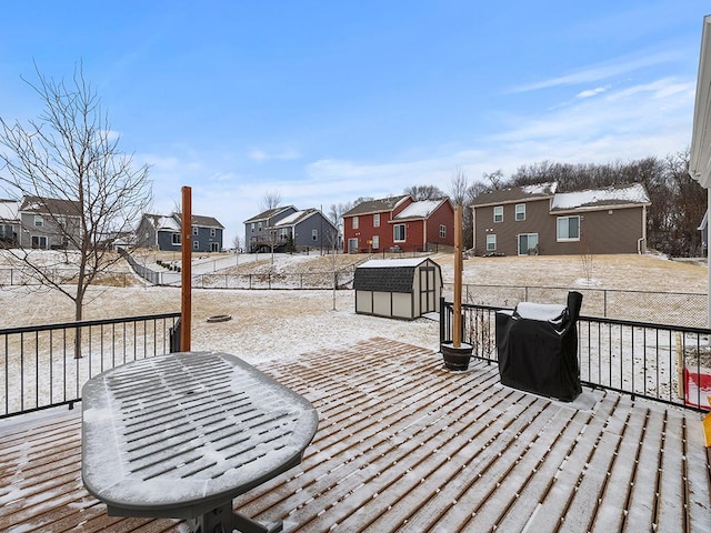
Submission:
{"label": "small beige storage shed with dark trim and snow-dusted roof", "polygon": [[439,312],[442,270],[431,259],[374,259],[356,269],[356,312],[413,320]]}

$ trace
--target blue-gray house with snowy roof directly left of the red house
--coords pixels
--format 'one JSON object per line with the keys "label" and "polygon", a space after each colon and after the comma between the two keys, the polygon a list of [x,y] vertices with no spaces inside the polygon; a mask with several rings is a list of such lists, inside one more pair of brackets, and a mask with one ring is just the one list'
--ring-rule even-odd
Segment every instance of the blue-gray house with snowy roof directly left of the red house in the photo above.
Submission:
{"label": "blue-gray house with snowy roof directly left of the red house", "polygon": [[318,248],[333,249],[338,245],[338,228],[318,209],[296,211],[279,219],[272,227],[277,242],[286,243],[288,250],[304,251]]}

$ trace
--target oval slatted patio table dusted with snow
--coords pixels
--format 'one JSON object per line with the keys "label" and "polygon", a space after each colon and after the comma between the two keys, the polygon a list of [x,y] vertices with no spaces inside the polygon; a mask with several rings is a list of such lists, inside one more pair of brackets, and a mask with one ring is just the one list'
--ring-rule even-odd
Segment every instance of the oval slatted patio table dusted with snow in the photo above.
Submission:
{"label": "oval slatted patio table dusted with snow", "polygon": [[309,401],[233,355],[134,361],[83,385],[82,480],[112,516],[277,532],[232,499],[298,465],[317,426]]}

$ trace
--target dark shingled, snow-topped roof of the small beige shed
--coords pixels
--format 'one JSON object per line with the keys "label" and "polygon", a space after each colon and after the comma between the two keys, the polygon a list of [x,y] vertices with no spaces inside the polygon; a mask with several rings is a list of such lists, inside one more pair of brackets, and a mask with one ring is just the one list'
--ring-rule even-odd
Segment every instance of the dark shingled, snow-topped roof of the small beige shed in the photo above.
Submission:
{"label": "dark shingled, snow-topped roof of the small beige shed", "polygon": [[[414,271],[427,259],[371,260],[356,269],[353,289],[357,291],[412,292]],[[429,266],[429,265],[428,265]]]}

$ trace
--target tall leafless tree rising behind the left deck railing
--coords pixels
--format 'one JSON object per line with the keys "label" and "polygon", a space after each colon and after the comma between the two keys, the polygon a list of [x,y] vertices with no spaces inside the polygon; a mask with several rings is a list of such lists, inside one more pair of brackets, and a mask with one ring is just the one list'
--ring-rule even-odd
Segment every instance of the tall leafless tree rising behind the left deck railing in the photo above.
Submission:
{"label": "tall leafless tree rising behind the left deck railing", "polygon": [[42,76],[37,66],[34,70],[39,81],[24,81],[44,109],[27,125],[0,118],[0,183],[51,224],[59,235],[54,247],[67,250],[76,271],[71,280],[57,278],[28,244],[11,253],[41,286],[70,298],[74,318],[81,320],[88,286],[121,259],[112,252],[113,243],[129,234],[151,203],[149,169],[134,170],[132,157],[119,151],[119,137],[81,63],[68,82]]}

